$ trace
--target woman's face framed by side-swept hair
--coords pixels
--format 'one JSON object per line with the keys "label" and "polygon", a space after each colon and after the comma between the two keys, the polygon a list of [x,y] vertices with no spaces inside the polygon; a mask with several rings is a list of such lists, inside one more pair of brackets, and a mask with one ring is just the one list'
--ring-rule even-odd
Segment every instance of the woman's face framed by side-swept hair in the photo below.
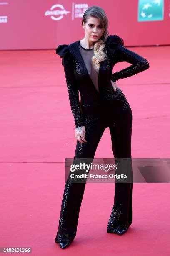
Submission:
{"label": "woman's face framed by side-swept hair", "polygon": [[[94,17],[87,19],[87,22],[82,24],[85,29],[85,37],[92,42],[96,42],[103,34],[103,28],[100,26],[99,20]],[[96,37],[93,37],[96,36]]]}

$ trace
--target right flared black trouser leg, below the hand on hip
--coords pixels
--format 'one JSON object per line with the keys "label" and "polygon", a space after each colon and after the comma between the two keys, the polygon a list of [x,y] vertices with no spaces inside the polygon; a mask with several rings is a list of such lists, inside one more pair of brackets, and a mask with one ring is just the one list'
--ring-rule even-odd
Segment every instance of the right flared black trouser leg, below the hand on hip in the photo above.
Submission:
{"label": "right flared black trouser leg, below the hand on hip", "polygon": [[[125,99],[126,100],[126,99]],[[131,135],[133,115],[130,106],[119,111],[115,123],[110,124],[112,150],[116,159],[126,158],[128,175],[133,181],[133,167],[131,159]],[[129,227],[133,220],[133,183],[115,182],[114,205],[107,225],[108,233],[116,233],[120,226]]]}

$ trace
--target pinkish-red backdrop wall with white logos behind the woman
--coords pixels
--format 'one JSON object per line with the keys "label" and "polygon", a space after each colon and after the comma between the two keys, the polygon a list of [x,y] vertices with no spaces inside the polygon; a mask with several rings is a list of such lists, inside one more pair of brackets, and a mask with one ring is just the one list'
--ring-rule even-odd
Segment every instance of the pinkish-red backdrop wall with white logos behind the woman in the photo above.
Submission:
{"label": "pinkish-red backdrop wall with white logos behind the woman", "polygon": [[121,36],[125,46],[170,44],[170,1],[163,1],[163,20],[143,22],[139,1],[0,0],[0,49],[54,49],[82,39],[82,14],[92,5],[105,10],[109,33]]}

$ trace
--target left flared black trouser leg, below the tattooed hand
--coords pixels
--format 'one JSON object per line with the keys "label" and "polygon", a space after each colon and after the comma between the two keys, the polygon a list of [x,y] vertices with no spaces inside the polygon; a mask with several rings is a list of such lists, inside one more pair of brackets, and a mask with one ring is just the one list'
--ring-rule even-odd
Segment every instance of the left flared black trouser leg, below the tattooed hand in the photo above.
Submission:
{"label": "left flared black trouser leg, below the tattooed hand", "polygon": [[[77,163],[77,158],[89,158],[91,162],[95,156],[97,145],[105,130],[105,123],[99,117],[85,116],[86,143],[77,141],[73,164]],[[76,236],[77,223],[80,206],[85,190],[85,183],[66,182],[62,198],[59,226],[55,242],[69,241]]]}

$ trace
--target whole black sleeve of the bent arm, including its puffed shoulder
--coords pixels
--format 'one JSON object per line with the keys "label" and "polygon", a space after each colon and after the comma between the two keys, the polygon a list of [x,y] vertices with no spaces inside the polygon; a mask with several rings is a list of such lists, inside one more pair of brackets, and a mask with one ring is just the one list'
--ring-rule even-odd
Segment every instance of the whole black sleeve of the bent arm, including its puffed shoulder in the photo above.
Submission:
{"label": "whole black sleeve of the bent arm, including its puffed shoulder", "polygon": [[108,45],[110,46],[109,48],[112,57],[115,57],[118,62],[126,61],[133,64],[125,69],[120,70],[119,72],[113,73],[110,78],[113,82],[116,82],[120,78],[131,77],[150,67],[146,59],[144,59],[139,54],[136,54],[134,51],[130,51],[129,49],[125,48],[123,46],[123,39],[117,35],[110,36]]}

